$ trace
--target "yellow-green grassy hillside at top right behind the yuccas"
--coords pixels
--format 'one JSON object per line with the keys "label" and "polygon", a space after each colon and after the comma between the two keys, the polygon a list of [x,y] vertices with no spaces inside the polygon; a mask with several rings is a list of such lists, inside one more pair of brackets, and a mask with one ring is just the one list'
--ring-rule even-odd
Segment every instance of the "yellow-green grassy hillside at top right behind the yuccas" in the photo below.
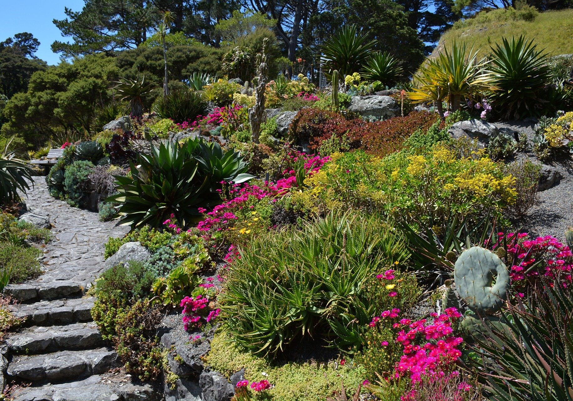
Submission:
{"label": "yellow-green grassy hillside at top right behind the yuccas", "polygon": [[573,54],[573,9],[537,13],[531,9],[494,10],[480,13],[474,18],[457,22],[439,40],[434,49],[441,49],[454,40],[481,47],[481,55],[489,52],[490,45],[501,42],[501,37],[525,34],[544,47],[552,56]]}

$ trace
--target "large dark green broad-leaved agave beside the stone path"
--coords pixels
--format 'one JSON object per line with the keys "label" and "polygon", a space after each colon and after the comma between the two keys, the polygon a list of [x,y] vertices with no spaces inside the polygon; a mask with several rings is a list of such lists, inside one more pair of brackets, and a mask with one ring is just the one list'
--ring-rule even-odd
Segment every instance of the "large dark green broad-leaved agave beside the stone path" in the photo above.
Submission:
{"label": "large dark green broad-leaved agave beside the stone path", "polygon": [[163,227],[171,215],[181,227],[199,216],[198,207],[218,202],[219,181],[245,182],[247,165],[239,153],[223,154],[221,147],[199,139],[183,144],[164,141],[140,153],[131,163],[131,177],[115,176],[117,194],[108,202],[119,204],[121,225]]}

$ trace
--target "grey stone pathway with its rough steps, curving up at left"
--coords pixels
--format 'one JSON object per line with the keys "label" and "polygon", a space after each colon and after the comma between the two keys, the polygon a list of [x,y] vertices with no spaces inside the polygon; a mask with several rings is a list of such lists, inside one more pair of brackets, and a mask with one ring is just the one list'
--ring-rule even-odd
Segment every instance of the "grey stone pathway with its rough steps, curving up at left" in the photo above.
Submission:
{"label": "grey stone pathway with its rough steps, curving up at left", "polygon": [[149,385],[106,375],[121,364],[92,322],[93,298],[84,296],[105,269],[105,242],[128,228],[102,223],[97,213],[54,199],[44,177],[34,184],[26,204],[33,213],[49,217],[54,239],[44,248],[43,274],[4,289],[4,295],[20,301],[11,306],[15,316],[26,317],[25,326],[0,345],[6,381],[31,383],[14,392],[14,401],[158,399]]}

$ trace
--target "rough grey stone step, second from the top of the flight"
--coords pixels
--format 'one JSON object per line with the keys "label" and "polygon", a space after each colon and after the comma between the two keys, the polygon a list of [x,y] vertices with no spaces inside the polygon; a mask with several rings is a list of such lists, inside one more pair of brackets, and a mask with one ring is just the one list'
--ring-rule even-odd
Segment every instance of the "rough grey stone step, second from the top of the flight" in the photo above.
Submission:
{"label": "rough grey stone step, second from the top of the flight", "polygon": [[16,303],[8,309],[15,317],[25,318],[24,325],[51,326],[92,321],[95,298],[56,299],[36,303]]}

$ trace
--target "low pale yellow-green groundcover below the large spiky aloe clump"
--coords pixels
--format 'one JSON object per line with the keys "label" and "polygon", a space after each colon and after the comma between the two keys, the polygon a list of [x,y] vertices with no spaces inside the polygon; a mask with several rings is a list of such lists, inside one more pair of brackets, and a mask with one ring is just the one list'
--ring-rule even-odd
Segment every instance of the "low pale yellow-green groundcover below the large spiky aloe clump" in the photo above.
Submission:
{"label": "low pale yellow-green groundcover below the large spiky aloe clump", "polygon": [[337,361],[269,363],[237,347],[230,334],[223,330],[215,334],[205,360],[211,368],[226,377],[245,369],[246,380],[268,380],[274,385],[268,391],[273,401],[324,401],[334,391],[340,390],[342,380],[350,395],[366,377],[364,369],[350,361],[343,366]]}

